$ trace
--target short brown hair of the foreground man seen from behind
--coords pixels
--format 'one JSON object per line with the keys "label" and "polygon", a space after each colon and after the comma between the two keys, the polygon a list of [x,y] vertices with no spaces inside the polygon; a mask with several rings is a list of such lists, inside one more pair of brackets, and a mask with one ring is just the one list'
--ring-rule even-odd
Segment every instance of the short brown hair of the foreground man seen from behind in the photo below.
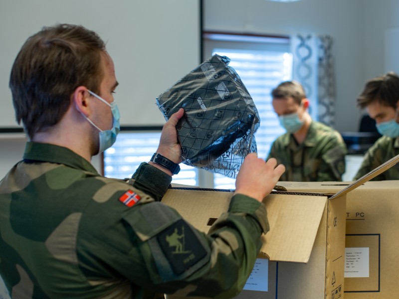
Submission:
{"label": "short brown hair of the foreground man seen from behind", "polygon": [[64,116],[78,86],[98,92],[104,41],[83,26],[43,27],[23,44],[12,65],[9,87],[18,124],[32,138]]}

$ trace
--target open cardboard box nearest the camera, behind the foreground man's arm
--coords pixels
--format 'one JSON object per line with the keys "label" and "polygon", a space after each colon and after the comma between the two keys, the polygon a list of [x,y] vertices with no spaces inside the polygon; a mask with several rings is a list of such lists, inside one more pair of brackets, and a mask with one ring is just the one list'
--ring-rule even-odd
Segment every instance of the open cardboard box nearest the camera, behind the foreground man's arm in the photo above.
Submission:
{"label": "open cardboard box nearest the camera, behind the foreground man's arm", "polygon": [[[162,202],[207,232],[212,220],[227,211],[231,196],[232,192],[216,190],[170,189]],[[238,298],[342,297],[345,194],[332,199],[326,194],[278,191],[264,203],[270,231],[262,237],[259,255],[267,260],[259,261],[268,261],[268,279],[261,282],[267,292],[243,290]]]}

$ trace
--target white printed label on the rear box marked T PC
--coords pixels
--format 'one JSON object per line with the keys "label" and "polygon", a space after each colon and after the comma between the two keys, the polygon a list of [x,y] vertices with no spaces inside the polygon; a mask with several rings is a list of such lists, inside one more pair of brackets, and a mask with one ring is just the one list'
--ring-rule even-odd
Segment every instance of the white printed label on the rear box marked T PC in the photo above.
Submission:
{"label": "white printed label on the rear box marked T PC", "polygon": [[368,247],[345,248],[344,277],[369,277],[370,255]]}

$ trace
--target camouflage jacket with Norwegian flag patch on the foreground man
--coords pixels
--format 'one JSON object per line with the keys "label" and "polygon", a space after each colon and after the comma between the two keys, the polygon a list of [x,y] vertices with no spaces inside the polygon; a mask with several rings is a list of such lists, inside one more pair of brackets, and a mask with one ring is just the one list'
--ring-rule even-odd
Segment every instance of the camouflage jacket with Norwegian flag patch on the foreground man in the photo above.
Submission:
{"label": "camouflage jacket with Norwegian flag patch on the foreground man", "polygon": [[105,178],[69,149],[27,143],[0,181],[0,275],[11,297],[235,296],[268,230],[264,205],[235,195],[204,234],[160,202],[170,182],[147,163],[131,184]]}

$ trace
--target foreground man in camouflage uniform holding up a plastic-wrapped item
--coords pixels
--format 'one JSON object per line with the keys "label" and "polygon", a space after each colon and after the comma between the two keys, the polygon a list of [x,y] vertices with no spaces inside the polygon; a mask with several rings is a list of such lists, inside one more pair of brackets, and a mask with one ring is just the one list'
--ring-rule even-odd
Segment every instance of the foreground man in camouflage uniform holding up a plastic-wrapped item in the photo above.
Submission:
{"label": "foreground man in camouflage uniform holding up a plastic-wrapped item", "polygon": [[[168,164],[142,163],[130,183],[91,165],[119,131],[116,86],[104,42],[81,26],[45,27],[15,59],[10,88],[29,142],[0,181],[0,275],[10,296],[237,295],[268,231],[261,201],[284,166],[249,154],[228,212],[201,233],[160,202]],[[157,149],[170,165],[181,162],[183,114],[165,124]]]}

